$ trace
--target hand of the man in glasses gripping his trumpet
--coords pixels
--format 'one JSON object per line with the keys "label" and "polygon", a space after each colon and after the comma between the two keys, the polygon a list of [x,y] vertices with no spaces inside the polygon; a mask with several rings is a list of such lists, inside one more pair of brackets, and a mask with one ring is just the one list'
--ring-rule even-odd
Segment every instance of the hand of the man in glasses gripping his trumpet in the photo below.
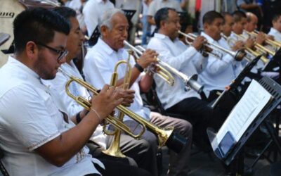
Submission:
{"label": "hand of the man in glasses gripping his trumpet", "polygon": [[107,115],[112,113],[116,106],[123,102],[124,99],[120,97],[122,96],[116,91],[115,87],[110,87],[105,84],[103,89],[101,89],[100,94],[93,97],[91,108],[100,115],[100,120],[103,120]]}

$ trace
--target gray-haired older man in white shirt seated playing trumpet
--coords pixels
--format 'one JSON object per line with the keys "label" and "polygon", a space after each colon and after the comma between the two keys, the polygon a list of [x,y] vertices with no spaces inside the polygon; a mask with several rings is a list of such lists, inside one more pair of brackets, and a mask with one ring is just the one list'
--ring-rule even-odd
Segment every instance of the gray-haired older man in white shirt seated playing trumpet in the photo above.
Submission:
{"label": "gray-haired older man in white shirt seated playing trumpet", "polygon": [[[100,24],[101,37],[98,39],[98,43],[86,54],[84,64],[84,75],[87,82],[93,84],[93,86],[100,88],[103,84],[108,84],[111,79],[112,72],[114,70],[117,61],[126,60],[128,53],[124,49],[124,40],[128,37],[129,24],[123,11],[116,8],[110,9],[105,14]],[[148,50],[139,58],[138,63],[133,61],[133,57],[130,59],[132,65],[131,80],[129,89],[133,89],[136,94],[133,99],[133,103],[129,107],[131,111],[138,113],[141,117],[145,118],[159,127],[171,127],[174,126],[175,132],[188,138],[188,145],[178,154],[174,151],[170,152],[170,165],[168,175],[188,175],[188,160],[192,139],[192,126],[185,120],[177,118],[171,118],[159,113],[150,112],[148,108],[143,106],[141,99],[141,92],[148,92],[152,84],[152,73],[143,73],[143,69],[147,68],[150,63],[155,63],[157,56],[155,51]],[[126,65],[120,65],[117,73],[119,80],[117,85],[123,83],[123,77],[125,75]],[[136,122],[128,117],[124,117],[124,123],[135,132],[138,132],[141,127],[136,127]],[[135,129],[136,128],[136,129]],[[157,148],[157,137],[150,131],[145,131],[142,139],[147,140],[152,145],[152,149]],[[155,151],[154,151],[155,152]],[[154,158],[156,161],[156,158]],[[154,175],[157,175],[157,165],[155,163]]]}

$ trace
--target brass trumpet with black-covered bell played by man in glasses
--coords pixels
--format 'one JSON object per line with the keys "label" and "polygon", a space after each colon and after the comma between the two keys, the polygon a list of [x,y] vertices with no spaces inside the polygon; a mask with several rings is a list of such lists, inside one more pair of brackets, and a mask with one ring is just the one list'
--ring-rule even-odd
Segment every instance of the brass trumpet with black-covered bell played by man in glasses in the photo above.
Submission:
{"label": "brass trumpet with black-covered bell played by man in glasses", "polygon": [[[81,96],[74,96],[74,94],[70,92],[70,84],[72,82],[77,82],[77,84],[80,84],[81,86],[85,87],[87,90],[92,92],[93,95],[98,95],[98,90],[91,84],[85,82],[84,80],[69,75],[62,68],[59,68],[58,70],[65,76],[70,78],[65,84],[65,92],[67,93],[67,95],[74,99],[81,106],[86,108],[88,111],[90,111],[91,103]],[[133,111],[131,111],[129,108],[126,108],[122,105],[117,106],[117,110],[124,113],[125,115],[128,115],[132,120],[135,120],[140,125],[142,125],[143,130],[139,134],[133,134],[130,128],[125,125],[124,122],[122,122],[121,120],[114,118],[111,115],[108,115],[106,120],[110,122],[110,124],[112,124],[113,126],[117,127],[117,129],[126,132],[126,134],[129,134],[134,139],[140,139],[140,137],[143,135],[143,132],[145,132],[146,128],[148,128],[151,132],[157,135],[159,147],[162,147],[166,144],[169,149],[175,151],[176,153],[179,153],[187,144],[188,139],[185,139],[180,134],[175,133],[174,127],[159,128],[151,122],[148,122],[147,120],[143,119],[140,115],[133,113]]]}

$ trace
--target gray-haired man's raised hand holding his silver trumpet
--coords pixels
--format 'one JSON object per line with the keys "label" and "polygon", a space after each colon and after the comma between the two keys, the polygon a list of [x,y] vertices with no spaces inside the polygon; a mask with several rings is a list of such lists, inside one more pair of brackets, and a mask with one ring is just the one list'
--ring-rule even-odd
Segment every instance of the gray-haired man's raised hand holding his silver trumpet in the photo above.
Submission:
{"label": "gray-haired man's raised hand holding his silver trumpet", "polygon": [[141,65],[142,68],[147,68],[150,63],[157,62],[157,56],[158,54],[156,53],[156,51],[147,49],[138,59],[138,64]]}

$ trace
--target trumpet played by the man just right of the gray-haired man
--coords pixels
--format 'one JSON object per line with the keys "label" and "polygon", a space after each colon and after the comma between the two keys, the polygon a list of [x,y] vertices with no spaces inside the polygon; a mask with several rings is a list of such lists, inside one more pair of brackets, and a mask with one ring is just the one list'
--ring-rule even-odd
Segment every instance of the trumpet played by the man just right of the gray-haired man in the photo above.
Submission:
{"label": "trumpet played by the man just right of the gray-haired man", "polygon": [[[197,37],[197,35],[195,34],[185,34],[181,31],[178,31],[179,34],[182,34],[184,37],[187,37],[187,38],[190,38],[192,40],[195,40],[195,38]],[[235,58],[235,60],[238,60],[238,61],[241,61],[242,58],[244,58],[244,56],[246,55],[244,53],[244,51],[242,50],[239,50],[239,51],[230,51],[228,49],[225,49],[221,46],[218,46],[217,44],[212,44],[210,42],[207,42],[207,44],[204,44],[204,46],[207,46],[209,49],[212,49],[213,51],[221,51],[221,52],[224,52],[226,54],[230,54],[230,56],[233,56],[233,58]],[[214,55],[216,57],[218,57],[218,54],[214,54],[214,53],[209,53],[208,54],[211,54],[211,55]],[[221,58],[221,57],[219,57]]]}

